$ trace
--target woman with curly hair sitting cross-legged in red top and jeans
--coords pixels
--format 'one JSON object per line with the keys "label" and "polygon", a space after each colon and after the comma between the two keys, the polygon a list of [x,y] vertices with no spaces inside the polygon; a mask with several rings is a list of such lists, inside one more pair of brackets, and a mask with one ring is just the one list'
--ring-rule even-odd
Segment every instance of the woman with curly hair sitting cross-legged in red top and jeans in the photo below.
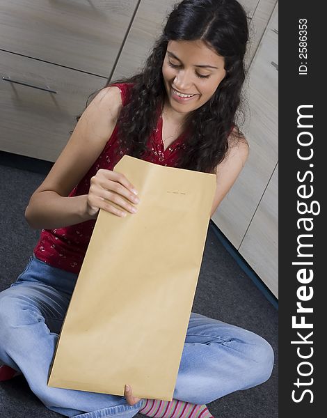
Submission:
{"label": "woman with curly hair sitting cross-legged in red top and jeans", "polygon": [[[269,378],[260,336],[191,314],[172,402],[47,387],[47,376],[99,209],[133,214],[134,185],[113,167],[128,153],[216,173],[212,214],[236,180],[248,144],[235,112],[244,82],[246,14],[236,0],[184,0],[143,71],[108,83],[35,190],[26,219],[42,229],[26,270],[0,293],[0,379],[22,372],[49,408],[68,417],[212,417],[206,403]],[[87,360],[86,360],[87,361]]]}

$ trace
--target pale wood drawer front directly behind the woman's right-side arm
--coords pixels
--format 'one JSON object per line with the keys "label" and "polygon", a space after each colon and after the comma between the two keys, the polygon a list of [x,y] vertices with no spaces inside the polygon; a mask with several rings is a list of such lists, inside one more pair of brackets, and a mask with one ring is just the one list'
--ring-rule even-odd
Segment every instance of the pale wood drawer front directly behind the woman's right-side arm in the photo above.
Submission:
{"label": "pale wood drawer front directly behind the woman's right-side arm", "polygon": [[278,161],[278,34],[266,30],[248,74],[245,96],[250,114],[244,131],[250,146],[246,166],[225,196],[214,222],[239,248]]}

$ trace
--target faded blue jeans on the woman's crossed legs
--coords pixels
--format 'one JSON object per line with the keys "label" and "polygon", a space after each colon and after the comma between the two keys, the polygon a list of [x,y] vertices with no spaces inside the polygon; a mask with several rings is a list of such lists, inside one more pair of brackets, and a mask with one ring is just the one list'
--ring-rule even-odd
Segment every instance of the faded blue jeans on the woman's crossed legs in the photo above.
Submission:
{"label": "faded blue jeans on the woman's crossed legs", "polygon": [[[31,257],[17,281],[0,293],[0,359],[22,371],[49,410],[79,418],[134,417],[143,400],[131,406],[123,396],[47,386],[76,280],[77,274]],[[192,312],[173,397],[210,403],[259,385],[271,376],[272,368],[273,350],[262,337]]]}

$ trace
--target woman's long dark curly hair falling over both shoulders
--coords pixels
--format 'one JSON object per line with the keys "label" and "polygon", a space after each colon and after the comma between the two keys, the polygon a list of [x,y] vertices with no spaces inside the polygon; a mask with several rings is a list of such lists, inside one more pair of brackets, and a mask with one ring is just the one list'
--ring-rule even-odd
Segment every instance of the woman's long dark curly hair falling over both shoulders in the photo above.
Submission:
{"label": "woman's long dark curly hair falling over both shoulders", "polygon": [[224,57],[225,78],[210,100],[186,116],[189,136],[177,162],[182,169],[214,173],[228,150],[232,127],[233,137],[244,138],[235,114],[241,107],[248,23],[244,8],[236,0],[183,0],[175,4],[143,70],[106,83],[133,84],[129,102],[118,118],[119,150],[138,158],[148,152],[147,139],[157,125],[158,109],[162,109],[166,96],[161,67],[170,40],[202,40]]}

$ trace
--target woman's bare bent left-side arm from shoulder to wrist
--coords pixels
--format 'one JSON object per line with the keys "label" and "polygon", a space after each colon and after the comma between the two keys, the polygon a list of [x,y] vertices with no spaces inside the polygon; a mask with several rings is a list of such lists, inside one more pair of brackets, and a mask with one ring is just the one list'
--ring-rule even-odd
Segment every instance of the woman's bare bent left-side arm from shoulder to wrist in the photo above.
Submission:
{"label": "woman's bare bent left-side arm from shoulder to wrist", "polygon": [[93,219],[87,195],[67,196],[111,137],[121,104],[119,88],[113,86],[103,88],[86,107],[47,178],[31,196],[25,212],[31,227],[51,229]]}

